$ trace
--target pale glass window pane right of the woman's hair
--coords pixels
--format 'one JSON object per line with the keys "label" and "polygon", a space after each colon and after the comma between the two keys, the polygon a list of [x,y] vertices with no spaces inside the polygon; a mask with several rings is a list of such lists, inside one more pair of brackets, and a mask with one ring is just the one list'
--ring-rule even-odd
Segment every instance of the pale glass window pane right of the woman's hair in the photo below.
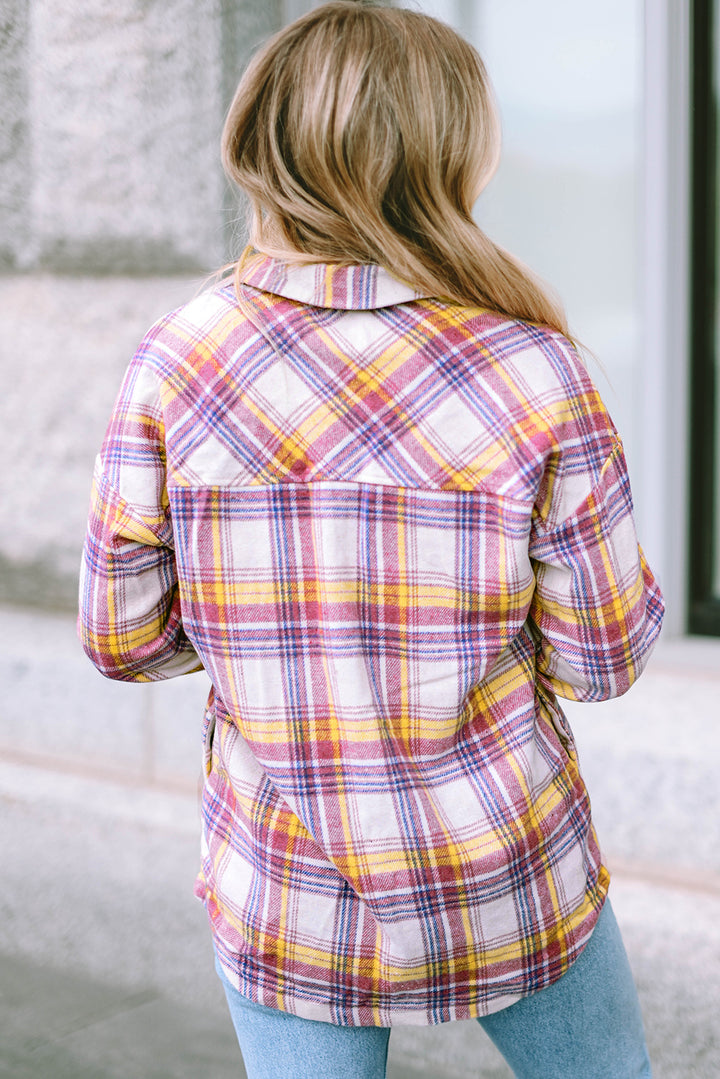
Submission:
{"label": "pale glass window pane right of the woman's hair", "polygon": [[486,63],[503,155],[478,202],[478,222],[559,293],[572,332],[593,354],[593,375],[631,466],[639,437],[642,0],[407,6],[450,23]]}

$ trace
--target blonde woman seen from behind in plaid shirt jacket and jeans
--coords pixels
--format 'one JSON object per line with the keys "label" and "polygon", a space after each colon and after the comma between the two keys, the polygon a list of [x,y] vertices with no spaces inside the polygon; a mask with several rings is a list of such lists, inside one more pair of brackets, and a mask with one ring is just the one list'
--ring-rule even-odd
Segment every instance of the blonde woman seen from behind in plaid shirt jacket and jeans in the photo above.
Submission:
{"label": "blonde woman seen from behind in plaid shirt jacket and jeans", "polygon": [[198,893],[250,1077],[474,1016],[517,1076],[650,1075],[557,696],[624,693],[663,604],[563,315],[472,219],[498,153],[443,24],[284,29],[223,133],[253,246],[98,459],[82,639],[212,679]]}

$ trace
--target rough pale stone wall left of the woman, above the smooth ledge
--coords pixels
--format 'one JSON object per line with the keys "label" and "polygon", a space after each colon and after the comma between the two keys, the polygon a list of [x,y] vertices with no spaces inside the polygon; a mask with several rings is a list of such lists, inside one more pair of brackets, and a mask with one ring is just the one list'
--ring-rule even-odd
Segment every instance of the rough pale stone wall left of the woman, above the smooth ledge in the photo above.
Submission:
{"label": "rough pale stone wall left of the woman, above the smooth ledge", "polygon": [[281,0],[0,2],[0,601],[74,606],[147,328],[232,254],[225,110]]}

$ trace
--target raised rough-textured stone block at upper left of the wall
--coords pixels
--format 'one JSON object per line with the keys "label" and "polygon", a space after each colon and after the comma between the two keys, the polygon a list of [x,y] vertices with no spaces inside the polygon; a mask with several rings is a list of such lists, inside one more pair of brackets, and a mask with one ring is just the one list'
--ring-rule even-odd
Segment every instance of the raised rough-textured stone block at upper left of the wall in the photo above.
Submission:
{"label": "raised rough-textured stone block at upper left of the wall", "polygon": [[220,28],[213,2],[32,5],[31,264],[163,273],[219,260]]}

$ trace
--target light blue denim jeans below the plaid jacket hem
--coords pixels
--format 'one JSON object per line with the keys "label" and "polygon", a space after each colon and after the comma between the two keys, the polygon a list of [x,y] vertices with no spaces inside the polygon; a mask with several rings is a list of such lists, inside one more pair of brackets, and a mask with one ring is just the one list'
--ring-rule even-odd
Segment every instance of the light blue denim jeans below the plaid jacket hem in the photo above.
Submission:
{"label": "light blue denim jeans below the plaid jacket hem", "polygon": [[[220,973],[248,1079],[384,1079],[390,1029],[298,1019]],[[651,1079],[640,1006],[610,903],[570,970],[478,1020],[517,1079]]]}

